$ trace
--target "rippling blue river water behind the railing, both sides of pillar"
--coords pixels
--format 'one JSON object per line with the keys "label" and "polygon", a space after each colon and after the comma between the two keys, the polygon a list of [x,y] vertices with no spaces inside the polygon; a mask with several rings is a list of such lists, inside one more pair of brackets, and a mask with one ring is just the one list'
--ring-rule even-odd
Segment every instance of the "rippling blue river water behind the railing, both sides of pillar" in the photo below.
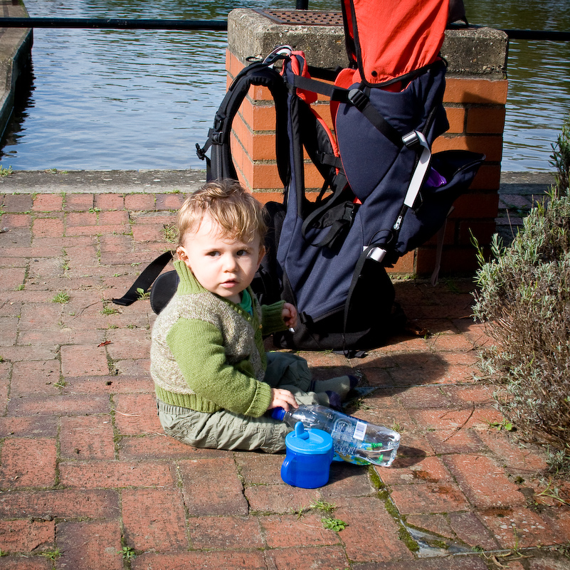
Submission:
{"label": "rippling blue river water behind the railing, both sides of pillar", "polygon": [[[24,0],[33,17],[226,19],[295,0]],[[470,23],[570,30],[569,0],[465,0]],[[310,0],[310,9],[339,9]],[[30,87],[4,134],[15,170],[204,168],[195,154],[226,88],[225,32],[34,30]],[[502,169],[551,169],[570,112],[570,43],[512,41]]]}

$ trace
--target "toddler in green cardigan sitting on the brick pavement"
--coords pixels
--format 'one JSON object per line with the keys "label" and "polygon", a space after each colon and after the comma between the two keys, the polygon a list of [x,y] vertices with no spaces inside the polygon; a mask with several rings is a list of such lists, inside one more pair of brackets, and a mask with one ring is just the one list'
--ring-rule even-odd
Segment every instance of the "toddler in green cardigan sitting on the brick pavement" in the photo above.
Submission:
{"label": "toddler in green cardigan sitting on the brick pavement", "polygon": [[297,310],[283,301],[262,307],[250,288],[266,232],[252,194],[234,181],[210,182],[186,199],[177,226],[180,283],[152,329],[164,431],[198,448],[285,450],[290,428],[272,408],[337,407],[357,379],[315,383],[304,359],[265,353],[263,335],[295,327]]}

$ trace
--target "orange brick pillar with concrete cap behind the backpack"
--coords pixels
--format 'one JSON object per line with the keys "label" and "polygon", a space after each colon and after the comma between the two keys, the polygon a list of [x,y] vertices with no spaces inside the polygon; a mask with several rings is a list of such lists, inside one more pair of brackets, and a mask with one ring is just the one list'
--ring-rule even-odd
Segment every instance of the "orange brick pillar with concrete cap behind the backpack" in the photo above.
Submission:
{"label": "orange brick pillar with concrete cap behind the backpack", "polygon": [[[310,65],[347,65],[340,12],[231,11],[228,16],[228,84],[247,65],[275,46],[288,44],[305,51]],[[450,129],[433,144],[433,152],[468,149],[487,155],[468,194],[455,201],[445,227],[441,270],[458,273],[477,267],[470,232],[483,246],[495,231],[499,203],[502,133],[505,125],[507,36],[489,28],[448,31],[442,56],[448,61],[444,95]],[[328,101],[315,103],[331,127]],[[275,165],[275,110],[267,88],[252,87],[234,120],[232,153],[241,182],[258,199],[280,200],[283,186]],[[307,158],[305,185],[315,197],[322,177]],[[391,272],[425,275],[436,263],[436,238],[404,255]]]}

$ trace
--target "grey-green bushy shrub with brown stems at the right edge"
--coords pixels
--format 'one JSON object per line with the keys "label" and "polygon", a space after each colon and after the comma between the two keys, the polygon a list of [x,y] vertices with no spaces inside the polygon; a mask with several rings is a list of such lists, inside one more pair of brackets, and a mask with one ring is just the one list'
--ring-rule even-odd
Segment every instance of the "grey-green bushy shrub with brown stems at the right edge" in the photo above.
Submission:
{"label": "grey-green bushy shrub with brown stems at the right edge", "polygon": [[497,344],[482,364],[503,381],[519,432],[570,455],[570,117],[552,165],[556,182],[510,246],[480,255],[475,317]]}

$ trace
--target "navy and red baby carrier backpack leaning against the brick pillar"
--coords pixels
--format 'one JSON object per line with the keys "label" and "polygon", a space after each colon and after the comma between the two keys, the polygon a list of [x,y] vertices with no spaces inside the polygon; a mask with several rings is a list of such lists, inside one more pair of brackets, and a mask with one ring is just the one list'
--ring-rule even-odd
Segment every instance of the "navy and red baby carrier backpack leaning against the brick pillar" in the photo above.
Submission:
{"label": "navy and red baby carrier backpack leaning against the brick pillar", "polygon": [[[238,179],[233,117],[250,85],[269,88],[284,192],[282,203],[266,205],[268,255],[252,287],[262,303],[297,307],[295,332],[274,335],[283,348],[354,352],[384,344],[405,320],[386,267],[443,226],[485,158],[431,154],[448,129],[438,56],[448,0],[342,0],[342,14],[349,68],[332,75],[279,46],[236,76],[206,144],[196,145],[208,179]],[[334,134],[311,107],[317,94],[331,100]],[[304,152],[324,179],[316,201],[305,193]],[[166,275],[168,292],[153,287],[151,297],[164,297],[155,295],[154,310],[174,293],[176,274]]]}

